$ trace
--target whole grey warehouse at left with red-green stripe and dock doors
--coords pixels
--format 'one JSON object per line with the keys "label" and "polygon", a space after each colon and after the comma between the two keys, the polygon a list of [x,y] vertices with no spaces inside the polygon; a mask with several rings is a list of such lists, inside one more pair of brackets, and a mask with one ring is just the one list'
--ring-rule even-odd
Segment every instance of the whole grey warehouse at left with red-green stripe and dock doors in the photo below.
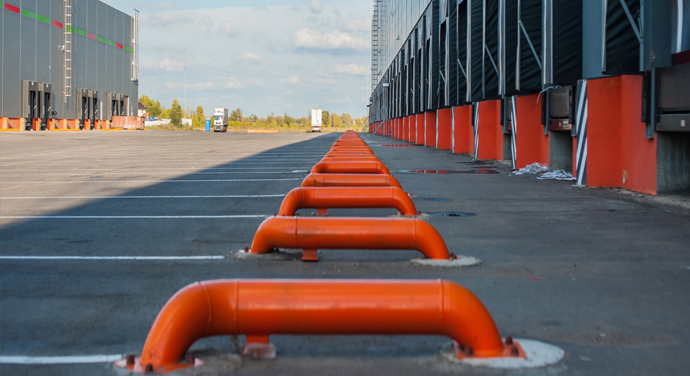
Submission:
{"label": "whole grey warehouse at left with red-green stripe and dock doors", "polygon": [[0,1],[3,128],[137,116],[138,12],[97,0]]}

